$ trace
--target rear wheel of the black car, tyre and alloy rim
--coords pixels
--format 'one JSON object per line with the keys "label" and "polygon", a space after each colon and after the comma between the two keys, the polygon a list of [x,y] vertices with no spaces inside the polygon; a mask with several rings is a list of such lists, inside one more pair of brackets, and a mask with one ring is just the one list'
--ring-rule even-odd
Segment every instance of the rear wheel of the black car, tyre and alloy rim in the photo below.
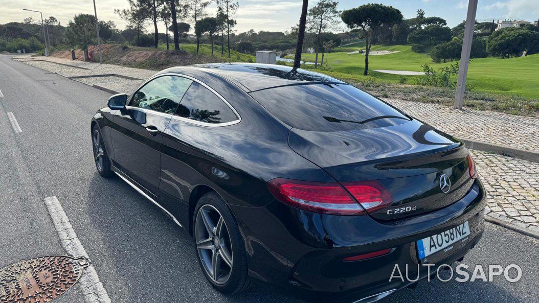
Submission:
{"label": "rear wheel of the black car, tyre and alloy rim", "polygon": [[250,288],[243,239],[223,198],[215,192],[203,195],[192,221],[198,263],[211,286],[224,294]]}

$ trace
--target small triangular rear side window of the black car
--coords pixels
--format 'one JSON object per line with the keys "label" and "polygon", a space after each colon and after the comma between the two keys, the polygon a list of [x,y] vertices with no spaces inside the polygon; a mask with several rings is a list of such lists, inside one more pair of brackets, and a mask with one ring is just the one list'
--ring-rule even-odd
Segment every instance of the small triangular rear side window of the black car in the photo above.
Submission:
{"label": "small triangular rear side window of the black car", "polygon": [[205,123],[226,123],[238,117],[217,95],[193,82],[176,110],[176,116]]}

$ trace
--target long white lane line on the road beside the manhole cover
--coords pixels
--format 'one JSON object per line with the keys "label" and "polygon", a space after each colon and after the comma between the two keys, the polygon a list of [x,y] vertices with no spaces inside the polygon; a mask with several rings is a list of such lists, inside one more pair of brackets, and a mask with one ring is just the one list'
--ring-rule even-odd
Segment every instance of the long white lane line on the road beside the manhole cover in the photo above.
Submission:
{"label": "long white lane line on the road beside the manhole cover", "polygon": [[[54,229],[58,233],[60,242],[68,255],[74,258],[85,257],[88,258],[86,250],[80,243],[75,230],[71,226],[69,219],[64,212],[64,209],[60,205],[60,201],[56,196],[48,197],[44,199],[47,210],[52,218]],[[82,277],[80,277],[77,283],[84,295],[84,301],[86,303],[110,303],[107,291],[103,284],[99,280],[99,276],[95,271],[92,263],[84,270]]]}

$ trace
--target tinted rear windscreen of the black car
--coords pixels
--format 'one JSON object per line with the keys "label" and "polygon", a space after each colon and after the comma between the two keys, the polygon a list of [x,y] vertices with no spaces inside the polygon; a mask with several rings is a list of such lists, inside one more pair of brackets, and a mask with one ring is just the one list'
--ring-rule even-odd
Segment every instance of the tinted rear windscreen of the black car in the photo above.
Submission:
{"label": "tinted rear windscreen of the black car", "polygon": [[345,131],[410,121],[399,110],[349,84],[306,84],[254,91],[269,112],[293,128]]}

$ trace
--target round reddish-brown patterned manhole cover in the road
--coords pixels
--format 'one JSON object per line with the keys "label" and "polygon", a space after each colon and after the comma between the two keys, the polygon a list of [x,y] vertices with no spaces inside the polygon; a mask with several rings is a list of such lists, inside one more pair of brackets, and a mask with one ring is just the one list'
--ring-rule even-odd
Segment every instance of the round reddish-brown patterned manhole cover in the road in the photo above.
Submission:
{"label": "round reddish-brown patterned manhole cover in the road", "polygon": [[66,292],[88,266],[85,258],[47,256],[0,269],[0,303],[49,302]]}

